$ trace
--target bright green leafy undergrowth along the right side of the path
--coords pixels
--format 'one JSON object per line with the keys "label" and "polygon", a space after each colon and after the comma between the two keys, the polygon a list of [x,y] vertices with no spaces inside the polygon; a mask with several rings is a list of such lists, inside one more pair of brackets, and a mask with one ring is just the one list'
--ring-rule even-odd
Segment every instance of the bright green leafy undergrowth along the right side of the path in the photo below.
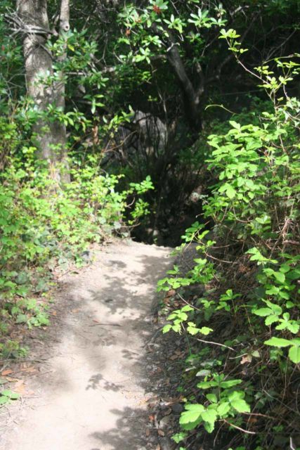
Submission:
{"label": "bright green leafy undergrowth along the right side of the path", "polygon": [[[280,81],[272,83],[262,83],[272,101],[259,124],[235,116],[209,136],[217,181],[203,222],[214,229],[190,227],[183,248],[197,247],[193,270],[184,276],[175,266],[159,281],[182,306],[164,332],[184,333],[189,349],[183,431],[174,437],[181,449],[300,448],[300,103],[278,101]],[[204,295],[188,295],[191,284]]]}

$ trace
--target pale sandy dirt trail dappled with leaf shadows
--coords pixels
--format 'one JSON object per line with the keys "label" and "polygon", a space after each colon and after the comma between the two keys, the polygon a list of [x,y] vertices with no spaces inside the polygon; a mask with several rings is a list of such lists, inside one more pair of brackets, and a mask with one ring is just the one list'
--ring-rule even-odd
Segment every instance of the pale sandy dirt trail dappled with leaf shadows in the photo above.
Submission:
{"label": "pale sandy dirt trail dappled with leaf shadows", "polygon": [[169,266],[167,248],[114,243],[65,278],[46,373],[27,382],[32,395],[7,420],[1,450],[152,449],[145,439],[151,368],[143,355],[156,283]]}

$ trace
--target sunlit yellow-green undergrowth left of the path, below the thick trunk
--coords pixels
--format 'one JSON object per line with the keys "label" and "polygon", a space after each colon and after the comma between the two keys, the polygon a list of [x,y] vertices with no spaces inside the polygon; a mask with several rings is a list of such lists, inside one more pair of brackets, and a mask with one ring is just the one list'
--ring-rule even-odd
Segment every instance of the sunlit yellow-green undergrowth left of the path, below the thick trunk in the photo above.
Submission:
{"label": "sunlit yellow-green undergrowth left of the path, below the thick trunk", "polygon": [[[34,148],[22,150],[25,160],[6,160],[0,176],[0,355],[4,359],[26,354],[19,340],[11,338],[16,324],[48,325],[53,271],[84,264],[91,243],[103,243],[114,234],[129,236],[129,227],[146,212],[136,195],[152,187],[147,179],[118,192],[120,176],[99,171],[91,160],[84,169],[74,167],[72,181],[61,188],[47,169],[34,162]],[[19,336],[22,340],[22,333]]]}

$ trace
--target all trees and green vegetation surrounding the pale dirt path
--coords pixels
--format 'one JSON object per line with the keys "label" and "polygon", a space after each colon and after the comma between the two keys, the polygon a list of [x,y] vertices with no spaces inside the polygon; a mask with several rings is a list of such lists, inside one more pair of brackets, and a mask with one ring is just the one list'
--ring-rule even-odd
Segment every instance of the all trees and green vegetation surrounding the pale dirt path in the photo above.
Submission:
{"label": "all trees and green vegetation surrounding the pale dirt path", "polygon": [[189,352],[178,449],[300,448],[299,18],[299,0],[1,1],[2,361],[91,243],[183,235],[194,267],[158,287]]}

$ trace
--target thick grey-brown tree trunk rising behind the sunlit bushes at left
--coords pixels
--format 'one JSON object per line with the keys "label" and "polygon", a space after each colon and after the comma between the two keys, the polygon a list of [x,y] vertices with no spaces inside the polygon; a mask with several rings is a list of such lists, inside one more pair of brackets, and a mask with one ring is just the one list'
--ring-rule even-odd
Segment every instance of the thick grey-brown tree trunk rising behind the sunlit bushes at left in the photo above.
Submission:
{"label": "thick grey-brown tree trunk rising behind the sunlit bushes at left", "polygon": [[[60,32],[69,30],[69,0],[62,0]],[[42,159],[48,162],[51,176],[58,182],[70,180],[67,166],[66,129],[58,120],[49,120],[47,108],[65,109],[65,82],[48,82],[53,75],[52,56],[46,49],[50,34],[47,0],[17,0],[17,12],[25,24],[23,51],[27,92],[42,117],[34,124],[34,141]],[[44,114],[43,114],[44,113]]]}

